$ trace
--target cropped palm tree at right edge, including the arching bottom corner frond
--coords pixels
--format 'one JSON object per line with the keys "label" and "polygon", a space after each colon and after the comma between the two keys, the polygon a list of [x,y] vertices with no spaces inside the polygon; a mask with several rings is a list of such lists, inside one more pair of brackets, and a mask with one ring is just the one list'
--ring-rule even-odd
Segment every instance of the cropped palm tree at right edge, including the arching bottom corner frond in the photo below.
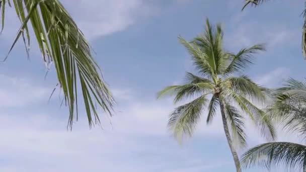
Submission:
{"label": "cropped palm tree at right edge, including the arching bottom corner frond", "polygon": [[[268,109],[287,131],[306,138],[306,82],[289,78],[284,87],[275,92],[275,101]],[[245,167],[259,165],[268,169],[285,164],[289,169],[306,171],[306,145],[272,142],[251,148],[242,156]]]}

